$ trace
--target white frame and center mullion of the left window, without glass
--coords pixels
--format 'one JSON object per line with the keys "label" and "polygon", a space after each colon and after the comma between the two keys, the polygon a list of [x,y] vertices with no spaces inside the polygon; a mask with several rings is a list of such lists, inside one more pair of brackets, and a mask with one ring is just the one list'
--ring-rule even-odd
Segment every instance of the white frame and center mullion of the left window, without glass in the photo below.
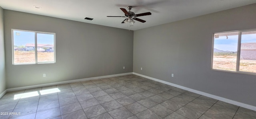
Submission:
{"label": "white frame and center mullion of the left window, without glass", "polygon": [[[33,63],[14,63],[14,31],[27,31],[27,32],[34,32],[35,33],[35,62]],[[38,62],[37,58],[37,34],[50,34],[54,35],[54,61],[49,61],[49,62]],[[50,32],[41,32],[41,31],[28,31],[28,30],[20,30],[20,29],[12,29],[12,65],[20,65],[20,64],[51,64],[51,63],[56,63],[56,33],[50,33]]]}

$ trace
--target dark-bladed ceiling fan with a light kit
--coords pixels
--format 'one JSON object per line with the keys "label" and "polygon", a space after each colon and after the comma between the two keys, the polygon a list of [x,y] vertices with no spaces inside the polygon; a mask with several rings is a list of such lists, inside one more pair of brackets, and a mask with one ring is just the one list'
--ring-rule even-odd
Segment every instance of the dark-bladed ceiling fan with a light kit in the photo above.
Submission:
{"label": "dark-bladed ceiling fan with a light kit", "polygon": [[107,16],[107,17],[122,17],[122,18],[127,17],[122,23],[132,23],[133,24],[133,23],[135,23],[134,20],[140,21],[142,23],[146,22],[145,20],[142,20],[142,19],[139,19],[139,18],[136,18],[136,17],[151,15],[150,12],[145,12],[145,13],[141,13],[141,14],[134,14],[134,12],[131,12],[132,6],[128,6],[129,12],[124,8],[120,8],[120,9],[124,12],[124,16]]}

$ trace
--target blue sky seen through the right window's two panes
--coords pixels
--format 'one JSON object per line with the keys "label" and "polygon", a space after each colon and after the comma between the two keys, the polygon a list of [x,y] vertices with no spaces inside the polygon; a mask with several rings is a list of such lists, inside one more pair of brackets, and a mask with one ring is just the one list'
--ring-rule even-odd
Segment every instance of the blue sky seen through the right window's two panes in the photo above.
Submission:
{"label": "blue sky seen through the right window's two panes", "polygon": [[[256,43],[256,34],[242,35],[241,43]],[[214,48],[222,51],[237,51],[238,35],[222,36],[214,39]]]}

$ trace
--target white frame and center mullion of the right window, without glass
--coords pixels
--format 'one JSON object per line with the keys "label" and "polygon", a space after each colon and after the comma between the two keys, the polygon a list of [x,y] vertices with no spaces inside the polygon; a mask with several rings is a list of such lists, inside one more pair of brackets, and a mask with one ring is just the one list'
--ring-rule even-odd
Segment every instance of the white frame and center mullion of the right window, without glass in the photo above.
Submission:
{"label": "white frame and center mullion of the right window, without glass", "polygon": [[241,51],[241,41],[242,41],[242,32],[248,32],[248,31],[256,31],[256,29],[246,29],[246,30],[237,30],[238,32],[238,45],[237,45],[237,54],[236,54],[236,71],[231,70],[221,70],[221,69],[214,69],[213,68],[213,58],[214,58],[214,38],[216,33],[229,33],[229,32],[236,32],[236,31],[224,31],[224,32],[216,32],[212,33],[212,59],[211,59],[211,70],[218,70],[218,71],[225,71],[225,72],[235,72],[235,73],[241,73],[241,74],[252,74],[256,75],[254,72],[245,72],[240,71],[240,51]]}

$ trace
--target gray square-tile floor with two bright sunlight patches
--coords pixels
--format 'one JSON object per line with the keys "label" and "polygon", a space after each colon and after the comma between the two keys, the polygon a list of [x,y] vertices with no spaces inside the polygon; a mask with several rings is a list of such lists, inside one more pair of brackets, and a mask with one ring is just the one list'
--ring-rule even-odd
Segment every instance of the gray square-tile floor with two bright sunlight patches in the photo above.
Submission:
{"label": "gray square-tile floor with two bright sunlight patches", "polygon": [[256,111],[133,74],[8,92],[0,112],[0,119],[256,119]]}

